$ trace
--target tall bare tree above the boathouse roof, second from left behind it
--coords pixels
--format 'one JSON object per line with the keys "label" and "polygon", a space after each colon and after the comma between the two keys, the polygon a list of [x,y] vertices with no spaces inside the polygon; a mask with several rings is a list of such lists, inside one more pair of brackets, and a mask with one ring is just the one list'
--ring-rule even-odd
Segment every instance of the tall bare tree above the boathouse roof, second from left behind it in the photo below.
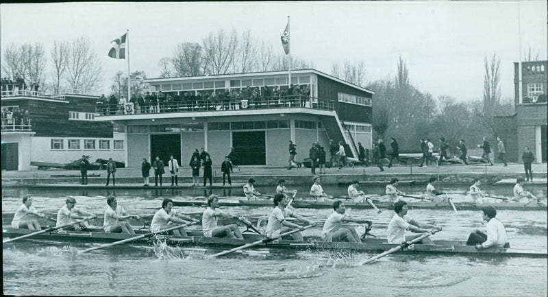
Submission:
{"label": "tall bare tree above the boathouse roof, second from left behind it", "polygon": [[238,36],[236,30],[225,34],[223,29],[203,39],[203,69],[206,74],[226,74],[233,67]]}

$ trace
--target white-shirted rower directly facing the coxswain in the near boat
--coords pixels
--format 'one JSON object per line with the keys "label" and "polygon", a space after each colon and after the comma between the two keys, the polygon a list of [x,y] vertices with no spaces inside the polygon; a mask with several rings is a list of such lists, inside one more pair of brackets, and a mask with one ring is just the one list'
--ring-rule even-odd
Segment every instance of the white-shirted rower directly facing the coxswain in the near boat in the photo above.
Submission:
{"label": "white-shirted rower directly facing the coxswain in the near boat", "polygon": [[[407,215],[408,207],[407,202],[398,201],[394,204],[395,215],[390,219],[388,223],[388,243],[401,244],[406,241],[411,241],[417,237],[421,237],[423,233],[433,232],[434,230],[442,230],[441,226],[432,224],[425,224],[417,222],[412,217]],[[406,231],[409,230],[412,233],[418,233],[415,235],[406,235]],[[422,244],[434,244],[432,239],[428,237],[421,240]]]}

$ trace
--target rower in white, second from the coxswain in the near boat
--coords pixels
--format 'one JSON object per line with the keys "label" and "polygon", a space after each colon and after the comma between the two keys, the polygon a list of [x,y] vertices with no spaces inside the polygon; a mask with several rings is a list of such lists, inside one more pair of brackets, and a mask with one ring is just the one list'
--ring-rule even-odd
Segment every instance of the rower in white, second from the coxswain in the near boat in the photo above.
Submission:
{"label": "rower in white, second from the coxswain in the near boat", "polygon": [[354,218],[346,213],[345,203],[341,200],[333,202],[333,213],[327,217],[321,231],[323,241],[348,241],[362,242],[354,228],[340,228],[344,222],[366,223],[371,225],[367,219]]}

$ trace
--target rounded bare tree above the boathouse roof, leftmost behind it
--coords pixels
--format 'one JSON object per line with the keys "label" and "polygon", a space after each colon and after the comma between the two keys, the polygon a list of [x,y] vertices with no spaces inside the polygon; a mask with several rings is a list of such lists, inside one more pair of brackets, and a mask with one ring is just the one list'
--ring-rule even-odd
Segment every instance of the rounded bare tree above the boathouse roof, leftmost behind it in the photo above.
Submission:
{"label": "rounded bare tree above the boathouse roof, leftmost behind it", "polygon": [[202,75],[202,47],[197,43],[181,43],[173,52],[171,64],[175,75],[196,76]]}

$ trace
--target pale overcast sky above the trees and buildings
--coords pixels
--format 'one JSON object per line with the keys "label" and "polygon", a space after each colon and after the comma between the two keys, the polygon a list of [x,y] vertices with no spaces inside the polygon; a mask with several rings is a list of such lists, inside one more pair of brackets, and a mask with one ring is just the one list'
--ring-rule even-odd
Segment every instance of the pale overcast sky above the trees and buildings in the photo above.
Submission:
{"label": "pale overcast sky above the trees and buildings", "polygon": [[517,1],[1,4],[0,47],[38,42],[49,51],[53,40],[85,35],[103,69],[97,93],[108,93],[114,73],[126,71],[125,60],[108,58],[110,41],[126,29],[132,71],[155,78],[158,60],[177,44],[201,43],[219,28],[251,29],[283,52],[279,36],[290,15],[291,54],[319,71],[363,60],[369,80],[377,80],[394,76],[402,56],[419,90],[469,101],[482,98],[484,56],[493,53],[501,58],[502,97],[514,97],[518,15],[521,48],[547,60],[547,2],[520,1],[519,10]]}

